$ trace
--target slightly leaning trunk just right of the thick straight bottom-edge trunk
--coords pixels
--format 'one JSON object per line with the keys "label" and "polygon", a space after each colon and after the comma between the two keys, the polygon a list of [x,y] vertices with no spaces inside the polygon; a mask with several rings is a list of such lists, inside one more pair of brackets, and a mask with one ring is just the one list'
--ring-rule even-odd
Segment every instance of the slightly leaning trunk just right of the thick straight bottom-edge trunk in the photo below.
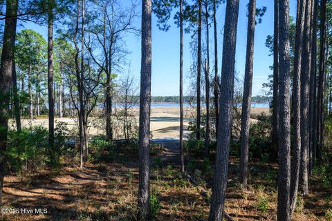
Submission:
{"label": "slightly leaning trunk just right of the thick straight bottom-edge trunk", "polygon": [[300,79],[301,79],[301,61],[302,61],[302,41],[304,28],[304,11],[306,8],[306,1],[297,1],[297,21],[296,21],[296,36],[295,36],[295,59],[294,59],[294,73],[293,73],[293,161],[291,165],[291,195],[290,206],[291,215],[295,209],[297,190],[299,184],[299,165],[301,159],[301,133],[300,133]]}

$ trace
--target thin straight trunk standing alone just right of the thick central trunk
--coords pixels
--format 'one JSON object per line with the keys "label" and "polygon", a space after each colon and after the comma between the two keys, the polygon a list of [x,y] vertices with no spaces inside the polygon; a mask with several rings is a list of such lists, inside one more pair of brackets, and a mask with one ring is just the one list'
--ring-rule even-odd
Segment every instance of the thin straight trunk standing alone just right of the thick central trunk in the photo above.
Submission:
{"label": "thin straight trunk standing alone just right of the thick central trunk", "polygon": [[180,0],[180,166],[185,173],[183,153],[183,0]]}

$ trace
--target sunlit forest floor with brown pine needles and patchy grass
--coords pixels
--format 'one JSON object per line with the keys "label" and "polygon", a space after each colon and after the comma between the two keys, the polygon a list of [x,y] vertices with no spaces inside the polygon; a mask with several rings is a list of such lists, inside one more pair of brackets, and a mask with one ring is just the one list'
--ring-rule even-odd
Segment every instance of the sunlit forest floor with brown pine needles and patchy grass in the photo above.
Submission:
{"label": "sunlit forest floor with brown pine needles and patchy grass", "polygon": [[[122,146],[112,160],[89,162],[84,169],[77,167],[77,161],[64,159],[57,170],[7,175],[3,208],[20,212],[3,213],[0,220],[134,220],[138,158],[129,148]],[[156,220],[207,220],[212,169],[186,157],[188,171],[199,183],[194,185],[178,172],[178,142],[153,144],[152,148],[151,211]],[[238,169],[237,160],[230,160],[225,211],[234,220],[276,220],[276,165],[251,164],[247,191],[238,184]],[[36,214],[36,208],[47,209],[47,213]],[[33,214],[21,209],[32,209]],[[332,209],[332,190],[313,176],[310,193],[299,198],[293,220],[328,220],[327,209]]]}

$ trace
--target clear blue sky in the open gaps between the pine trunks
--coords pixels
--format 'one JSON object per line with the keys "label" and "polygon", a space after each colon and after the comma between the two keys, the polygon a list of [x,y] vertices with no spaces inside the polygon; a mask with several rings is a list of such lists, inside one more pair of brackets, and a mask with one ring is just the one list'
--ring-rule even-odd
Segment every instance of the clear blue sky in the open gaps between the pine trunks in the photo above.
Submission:
{"label": "clear blue sky in the open gaps between the pine trunks", "polygon": [[[237,53],[236,53],[236,67],[239,77],[244,74],[246,64],[246,29],[247,29],[247,7],[248,0],[240,0],[239,6],[239,24],[237,32]],[[255,28],[255,50],[254,50],[254,78],[252,86],[252,95],[261,95],[262,84],[267,81],[268,75],[272,73],[269,66],[273,64],[273,57],[268,56],[269,51],[265,46],[267,35],[273,34],[273,0],[257,0],[257,8],[266,6],[266,15],[263,17],[263,22],[258,24]],[[140,6],[138,6],[140,8]],[[290,14],[295,16],[296,1],[291,0]],[[225,4],[219,7],[217,13],[217,30],[218,30],[218,54],[219,54],[219,70],[221,70],[221,52],[222,39],[221,32],[225,19]],[[139,27],[139,19],[136,21]],[[151,95],[178,95],[178,73],[179,73],[179,30],[173,21],[170,21],[171,28],[168,32],[158,30],[156,26],[156,18],[152,18],[152,81],[151,81]],[[41,33],[45,38],[47,37],[47,29],[44,26],[37,26],[33,23],[21,23],[19,29],[31,28]],[[213,64],[213,32],[210,30],[210,62]],[[203,32],[204,33],[204,32]],[[203,34],[205,35],[205,34]],[[205,36],[204,36],[205,37]],[[127,35],[127,46],[131,52],[128,60],[131,61],[131,70],[137,79],[140,79],[140,37],[134,35]],[[190,53],[190,34],[184,37],[184,52],[183,52],[183,71],[184,71],[184,91],[187,91],[190,79],[187,77],[192,59]],[[212,68],[211,68],[212,69]],[[220,75],[219,71],[219,75]]]}

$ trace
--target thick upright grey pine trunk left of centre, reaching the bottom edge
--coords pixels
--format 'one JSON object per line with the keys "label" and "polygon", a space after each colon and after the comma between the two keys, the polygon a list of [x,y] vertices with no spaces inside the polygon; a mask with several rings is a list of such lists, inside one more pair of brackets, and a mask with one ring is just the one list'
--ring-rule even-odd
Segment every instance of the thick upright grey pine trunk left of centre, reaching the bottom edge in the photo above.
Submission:
{"label": "thick upright grey pine trunk left of centre, reaching the bottom edge", "polygon": [[151,0],[142,1],[142,57],[140,71],[138,220],[149,218],[149,136],[151,108]]}

